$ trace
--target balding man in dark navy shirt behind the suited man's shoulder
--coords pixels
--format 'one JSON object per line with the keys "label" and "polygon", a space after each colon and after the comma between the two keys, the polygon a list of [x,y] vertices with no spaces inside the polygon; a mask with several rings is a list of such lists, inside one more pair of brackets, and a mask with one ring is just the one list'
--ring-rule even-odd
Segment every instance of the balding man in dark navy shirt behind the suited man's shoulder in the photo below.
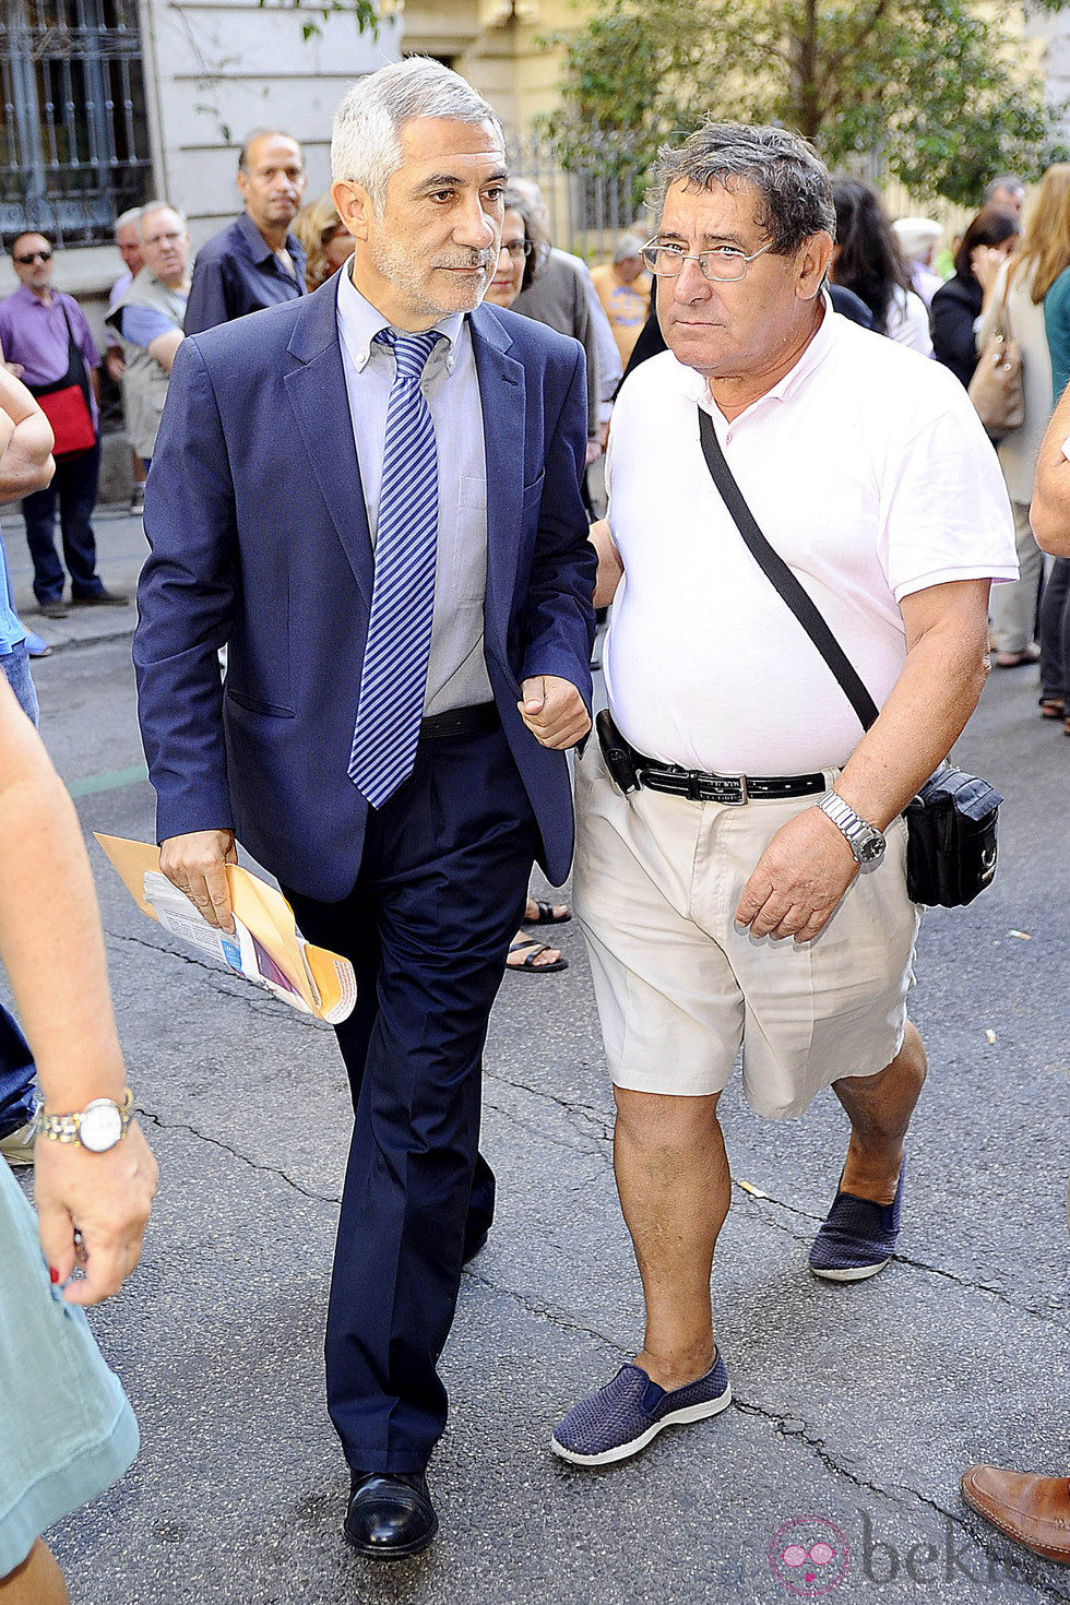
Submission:
{"label": "balding man in dark navy shirt behind the suited man's shoulder", "polygon": [[245,210],[197,252],[186,334],[305,294],[305,252],[290,223],[305,194],[305,159],[287,133],[257,128],[237,159]]}

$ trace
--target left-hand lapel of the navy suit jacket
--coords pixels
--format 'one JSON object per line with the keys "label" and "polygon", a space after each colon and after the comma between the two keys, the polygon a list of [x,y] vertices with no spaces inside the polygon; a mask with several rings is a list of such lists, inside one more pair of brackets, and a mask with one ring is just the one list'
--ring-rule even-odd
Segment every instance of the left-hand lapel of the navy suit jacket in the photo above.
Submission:
{"label": "left-hand lapel of the navy suit jacket", "polygon": [[302,302],[289,345],[298,366],[284,376],[284,385],[330,520],[371,608],[375,568],[342,368],[335,281],[337,274]]}

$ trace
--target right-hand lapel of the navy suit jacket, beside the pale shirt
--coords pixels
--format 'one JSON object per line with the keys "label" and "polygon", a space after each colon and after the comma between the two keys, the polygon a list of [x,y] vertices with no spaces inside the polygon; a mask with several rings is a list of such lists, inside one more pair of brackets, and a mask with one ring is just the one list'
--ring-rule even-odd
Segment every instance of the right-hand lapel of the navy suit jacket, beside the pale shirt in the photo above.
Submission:
{"label": "right-hand lapel of the navy suit jacket, beside the pale shirt", "polygon": [[525,371],[502,323],[488,307],[472,313],[472,350],[480,380],[486,451],[486,608],[484,636],[504,642],[520,557],[525,490]]}

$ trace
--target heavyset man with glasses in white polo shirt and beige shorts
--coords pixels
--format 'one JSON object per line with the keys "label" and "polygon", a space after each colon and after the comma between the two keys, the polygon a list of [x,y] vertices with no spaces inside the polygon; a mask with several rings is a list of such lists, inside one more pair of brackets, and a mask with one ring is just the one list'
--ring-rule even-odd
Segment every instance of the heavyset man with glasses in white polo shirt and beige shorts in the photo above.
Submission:
{"label": "heavyset man with glasses in white polo shirt and beige shorts", "polygon": [[[576,782],[576,908],[646,1339],[555,1432],[584,1465],[730,1400],[709,1281],[730,1202],[717,1103],[740,1045],[759,1114],[799,1115],[833,1087],[850,1120],[812,1270],[855,1281],[889,1263],[926,1075],[902,811],[980,695],[990,581],[1017,573],[961,385],[823,292],[836,223],[802,140],[709,125],[663,151],[655,215],[669,350],[618,400],[605,554],[606,579],[622,570],[610,711],[640,788],[614,783],[597,742]],[[865,737],[733,523],[703,430],[881,708]]]}

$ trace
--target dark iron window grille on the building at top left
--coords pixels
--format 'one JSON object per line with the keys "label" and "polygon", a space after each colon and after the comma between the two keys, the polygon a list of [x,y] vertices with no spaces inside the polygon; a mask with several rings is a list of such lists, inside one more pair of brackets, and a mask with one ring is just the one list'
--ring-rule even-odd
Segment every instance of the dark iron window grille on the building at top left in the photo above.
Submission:
{"label": "dark iron window grille on the building at top left", "polygon": [[0,228],[109,241],[151,170],[136,0],[0,0]]}

